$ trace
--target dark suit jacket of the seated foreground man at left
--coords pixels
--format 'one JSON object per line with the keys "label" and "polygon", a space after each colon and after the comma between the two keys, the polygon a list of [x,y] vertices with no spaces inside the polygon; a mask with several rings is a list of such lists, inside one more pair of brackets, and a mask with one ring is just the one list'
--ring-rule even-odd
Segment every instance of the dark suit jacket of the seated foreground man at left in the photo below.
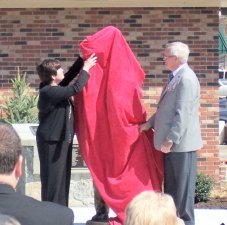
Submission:
{"label": "dark suit jacket of the seated foreground man at left", "polygon": [[52,202],[40,202],[0,184],[0,213],[15,217],[21,225],[72,225],[71,209]]}

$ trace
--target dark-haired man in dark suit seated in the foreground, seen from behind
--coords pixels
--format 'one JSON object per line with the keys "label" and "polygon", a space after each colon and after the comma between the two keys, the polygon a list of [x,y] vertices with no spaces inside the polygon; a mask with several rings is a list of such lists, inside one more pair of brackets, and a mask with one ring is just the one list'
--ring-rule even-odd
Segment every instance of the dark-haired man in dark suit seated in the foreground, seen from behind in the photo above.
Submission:
{"label": "dark-haired man in dark suit seated in the foreground, seen from behind", "polygon": [[19,136],[11,125],[0,122],[0,214],[13,216],[23,225],[72,225],[71,209],[40,202],[15,191],[22,161]]}

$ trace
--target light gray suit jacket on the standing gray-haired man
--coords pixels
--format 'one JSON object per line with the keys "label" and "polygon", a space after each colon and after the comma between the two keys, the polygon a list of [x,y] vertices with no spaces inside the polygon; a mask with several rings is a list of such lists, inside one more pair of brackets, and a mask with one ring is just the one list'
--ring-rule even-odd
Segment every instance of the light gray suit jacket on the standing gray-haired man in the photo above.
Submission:
{"label": "light gray suit jacket on the standing gray-haired man", "polygon": [[166,85],[156,113],[150,118],[154,128],[154,146],[170,139],[172,152],[195,151],[202,147],[199,122],[200,84],[186,64]]}

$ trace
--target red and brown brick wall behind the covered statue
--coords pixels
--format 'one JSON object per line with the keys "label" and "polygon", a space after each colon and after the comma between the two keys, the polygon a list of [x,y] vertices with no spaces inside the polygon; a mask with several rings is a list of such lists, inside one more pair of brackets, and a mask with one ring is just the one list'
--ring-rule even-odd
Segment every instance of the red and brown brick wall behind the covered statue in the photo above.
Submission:
{"label": "red and brown brick wall behind the covered statue", "polygon": [[162,63],[164,44],[189,44],[189,64],[202,94],[204,147],[198,169],[218,180],[218,8],[0,9],[0,100],[9,92],[17,66],[37,88],[36,63],[58,58],[66,70],[78,55],[80,41],[108,25],[123,32],[147,74],[143,102],[148,115],[155,110],[168,73]]}

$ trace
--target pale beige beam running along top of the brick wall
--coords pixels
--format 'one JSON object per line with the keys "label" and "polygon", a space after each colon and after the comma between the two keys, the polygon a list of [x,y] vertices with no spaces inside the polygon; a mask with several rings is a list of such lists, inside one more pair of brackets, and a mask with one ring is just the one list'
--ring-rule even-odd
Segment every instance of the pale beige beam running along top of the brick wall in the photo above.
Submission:
{"label": "pale beige beam running along top of the brick wall", "polygon": [[0,8],[227,7],[227,0],[0,0]]}

